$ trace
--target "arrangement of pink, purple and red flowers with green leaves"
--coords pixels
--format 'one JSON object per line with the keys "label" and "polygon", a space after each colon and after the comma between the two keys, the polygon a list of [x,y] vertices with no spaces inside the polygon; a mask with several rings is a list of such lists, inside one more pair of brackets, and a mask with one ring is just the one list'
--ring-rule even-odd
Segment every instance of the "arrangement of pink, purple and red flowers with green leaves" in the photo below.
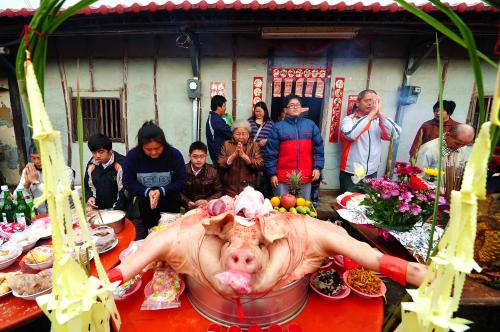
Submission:
{"label": "arrangement of pink, purple and red flowers with green leaves", "polygon": [[[361,204],[366,215],[382,228],[406,232],[426,220],[433,211],[435,186],[417,175],[422,169],[409,163],[396,162],[397,179],[364,179],[359,186],[368,195]],[[439,204],[446,203],[439,197]]]}

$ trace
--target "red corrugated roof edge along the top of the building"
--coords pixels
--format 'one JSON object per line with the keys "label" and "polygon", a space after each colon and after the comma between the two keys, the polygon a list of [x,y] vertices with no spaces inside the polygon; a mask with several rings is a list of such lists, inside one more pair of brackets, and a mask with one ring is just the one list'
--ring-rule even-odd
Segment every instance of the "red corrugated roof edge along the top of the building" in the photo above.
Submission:
{"label": "red corrugated roof edge along the top of the building", "polygon": [[[140,2],[139,2],[140,1]],[[82,15],[107,15],[157,11],[180,11],[180,10],[288,10],[288,11],[354,11],[354,12],[398,12],[404,11],[395,2],[387,1],[302,1],[302,0],[191,0],[191,1],[146,1],[129,4],[118,4],[114,6],[87,7],[79,12]],[[487,6],[483,2],[467,3],[456,1],[445,4],[455,12],[483,12],[497,11],[492,6]],[[417,7],[425,12],[437,10],[430,2],[417,4]],[[0,16],[4,17],[29,17],[36,9],[17,8],[0,9]]]}

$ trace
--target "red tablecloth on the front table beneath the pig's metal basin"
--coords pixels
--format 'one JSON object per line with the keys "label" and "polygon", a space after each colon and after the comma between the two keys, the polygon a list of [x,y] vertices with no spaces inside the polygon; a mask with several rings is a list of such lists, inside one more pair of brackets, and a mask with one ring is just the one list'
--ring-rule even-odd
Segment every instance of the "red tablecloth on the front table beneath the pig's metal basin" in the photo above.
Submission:
{"label": "red tablecloth on the front table beneath the pig's metal basin", "polygon": [[[141,311],[144,286],[152,273],[143,276],[139,291],[124,301],[117,301],[122,326],[120,332],[190,331],[204,332],[211,324],[196,312],[187,296],[181,296],[182,305],[177,309]],[[304,332],[356,331],[374,332],[382,329],[384,308],[382,299],[362,299],[351,293],[342,300],[327,302],[310,291],[304,310],[291,322],[299,324]]]}

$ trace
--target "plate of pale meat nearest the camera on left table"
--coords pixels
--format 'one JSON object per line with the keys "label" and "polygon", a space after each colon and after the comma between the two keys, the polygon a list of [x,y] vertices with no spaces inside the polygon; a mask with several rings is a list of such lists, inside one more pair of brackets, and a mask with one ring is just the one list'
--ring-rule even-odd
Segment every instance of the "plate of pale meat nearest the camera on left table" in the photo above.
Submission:
{"label": "plate of pale meat nearest the camera on left table", "polygon": [[23,273],[7,277],[12,295],[25,300],[34,300],[52,290],[52,269],[37,274]]}

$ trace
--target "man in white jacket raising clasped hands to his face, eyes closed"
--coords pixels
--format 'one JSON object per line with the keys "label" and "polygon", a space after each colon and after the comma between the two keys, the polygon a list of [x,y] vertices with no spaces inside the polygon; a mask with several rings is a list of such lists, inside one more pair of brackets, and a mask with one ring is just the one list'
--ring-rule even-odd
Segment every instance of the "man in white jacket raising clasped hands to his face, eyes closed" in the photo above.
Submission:
{"label": "man in white jacket raising clasped hands to his face, eyes closed", "polygon": [[340,158],[340,191],[357,191],[352,181],[355,169],[363,168],[366,177],[377,177],[382,140],[398,140],[401,134],[393,120],[382,112],[380,97],[375,90],[358,94],[356,112],[342,119],[340,139],[343,143]]}

